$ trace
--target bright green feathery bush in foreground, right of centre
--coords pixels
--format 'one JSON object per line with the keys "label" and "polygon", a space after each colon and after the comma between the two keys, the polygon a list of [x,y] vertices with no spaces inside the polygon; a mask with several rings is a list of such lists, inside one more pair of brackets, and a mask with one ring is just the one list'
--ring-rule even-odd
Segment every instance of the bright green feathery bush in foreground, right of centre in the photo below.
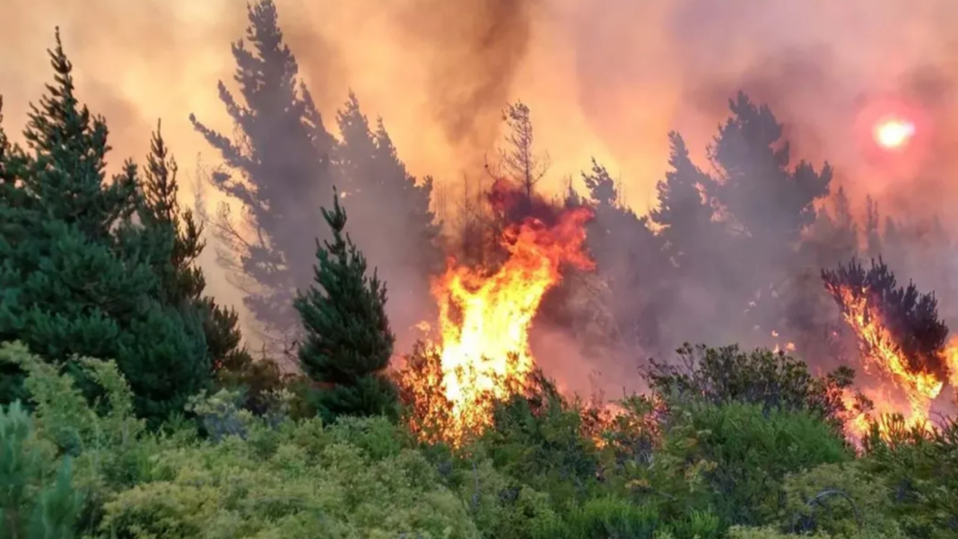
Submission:
{"label": "bright green feathery bush in foreground, right of centre", "polygon": [[851,458],[845,441],[810,412],[673,403],[663,429],[661,447],[633,484],[671,518],[700,509],[724,526],[761,525],[784,503],[787,474]]}

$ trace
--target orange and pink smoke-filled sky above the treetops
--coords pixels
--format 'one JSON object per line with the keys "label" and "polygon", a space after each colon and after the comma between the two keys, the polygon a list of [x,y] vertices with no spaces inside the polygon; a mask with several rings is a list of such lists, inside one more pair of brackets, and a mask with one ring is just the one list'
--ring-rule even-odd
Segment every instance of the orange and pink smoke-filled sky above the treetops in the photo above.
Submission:
{"label": "orange and pink smoke-filled sky above the treetops", "polygon": [[[958,323],[958,260],[947,240],[958,231],[943,221],[946,235],[922,232],[924,217],[947,214],[958,190],[949,151],[958,143],[958,5],[950,0],[277,6],[327,128],[334,131],[335,111],[354,90],[371,119],[384,119],[410,172],[431,174],[440,192],[456,192],[464,174],[481,174],[501,135],[502,107],[521,99],[533,110],[537,145],[552,156],[540,189],[559,192],[594,156],[620,179],[627,204],[646,213],[668,167],[667,133],[678,130],[707,168],[705,147],[729,114],[728,100],[744,90],[786,124],[796,157],[816,168],[833,164],[833,190],[848,190],[855,218],[863,219],[864,197],[872,194],[883,216],[919,221],[914,234],[923,248],[891,263],[902,281],[935,289],[947,321]],[[187,119],[194,112],[232,132],[216,87],[231,83],[230,43],[242,35],[244,8],[239,0],[6,0],[0,93],[8,131],[15,137],[49,79],[44,51],[58,25],[82,99],[107,118],[114,165],[146,153],[157,118],[181,168],[216,162]],[[906,102],[928,119],[907,155],[889,158],[870,146],[866,112],[881,100]],[[304,248],[311,236],[304,231]],[[203,263],[217,296],[239,306],[212,249]],[[705,292],[687,294],[710,303]],[[721,333],[709,336],[739,340]],[[685,338],[697,340],[696,328]]]}

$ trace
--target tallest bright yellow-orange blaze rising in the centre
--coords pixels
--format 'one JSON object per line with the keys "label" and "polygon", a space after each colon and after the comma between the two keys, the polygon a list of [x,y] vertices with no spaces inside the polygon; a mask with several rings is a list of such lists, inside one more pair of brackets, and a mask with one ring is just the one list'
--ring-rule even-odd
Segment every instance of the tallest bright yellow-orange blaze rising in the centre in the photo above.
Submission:
{"label": "tallest bright yellow-orange blaze rising in the centre", "polygon": [[[490,199],[493,206],[514,201]],[[414,431],[457,444],[489,425],[495,401],[522,391],[535,368],[529,329],[543,296],[559,283],[563,264],[593,267],[583,251],[591,216],[575,208],[552,222],[529,216],[506,226],[500,245],[507,258],[493,269],[448,258],[445,274],[433,282],[439,342],[420,350],[424,361],[400,377],[416,410]]]}

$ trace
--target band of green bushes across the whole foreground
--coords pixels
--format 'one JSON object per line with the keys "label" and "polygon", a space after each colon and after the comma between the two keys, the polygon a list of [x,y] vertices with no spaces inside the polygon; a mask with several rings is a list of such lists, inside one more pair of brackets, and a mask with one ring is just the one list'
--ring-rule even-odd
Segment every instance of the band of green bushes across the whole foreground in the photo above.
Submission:
{"label": "band of green bushes across the whole foreground", "polygon": [[539,376],[458,449],[385,416],[290,417],[285,391],[262,415],[200,394],[196,420],[149,430],[112,362],[77,359],[102,390],[90,401],[22,345],[0,360],[26,372],[33,404],[0,414],[4,537],[954,536],[953,424],[876,432],[856,455],[810,410],[656,393],[597,439],[595,411]]}

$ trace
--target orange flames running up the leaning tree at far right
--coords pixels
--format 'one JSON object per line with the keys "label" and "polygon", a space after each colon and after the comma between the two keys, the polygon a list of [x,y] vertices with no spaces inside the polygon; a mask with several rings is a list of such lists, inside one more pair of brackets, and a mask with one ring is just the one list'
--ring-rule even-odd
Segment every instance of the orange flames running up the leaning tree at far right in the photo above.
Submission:
{"label": "orange flames running up the leaning tree at far right", "polygon": [[[869,368],[877,368],[880,374],[891,378],[904,393],[906,402],[903,404],[908,408],[908,413],[905,415],[906,427],[930,429],[932,426],[928,421],[928,415],[931,412],[931,402],[942,392],[945,381],[939,379],[933,372],[909,369],[909,362],[901,351],[901,346],[882,323],[881,313],[870,302],[867,290],[856,293],[854,289],[846,286],[837,288],[830,286],[829,290],[840,298],[840,303],[844,307],[842,316],[855,331],[865,361],[865,371],[870,371]],[[875,403],[874,413],[877,416],[901,411],[901,406],[896,402],[898,399],[894,395],[880,390],[869,390],[866,393],[871,393],[866,396]],[[851,401],[851,393],[846,393],[847,408],[852,408]],[[859,412],[850,417],[847,426],[851,434],[859,438],[863,436],[868,431],[870,419],[871,415],[867,412]],[[886,430],[883,424],[880,428],[882,431]]]}

